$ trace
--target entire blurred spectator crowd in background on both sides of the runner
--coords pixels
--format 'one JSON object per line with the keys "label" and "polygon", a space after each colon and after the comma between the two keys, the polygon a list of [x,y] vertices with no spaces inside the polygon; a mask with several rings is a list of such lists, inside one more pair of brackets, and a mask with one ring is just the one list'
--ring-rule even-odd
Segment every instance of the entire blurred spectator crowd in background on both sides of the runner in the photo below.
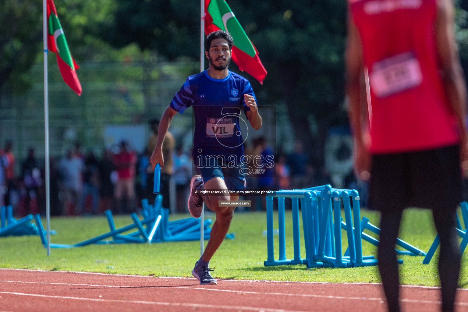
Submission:
{"label": "entire blurred spectator crowd in background on both sides of the runner", "polygon": [[[137,155],[131,142],[122,141],[111,149],[101,149],[99,156],[93,150],[82,153],[80,143],[65,155],[50,160],[51,215],[97,215],[111,209],[114,214],[129,214],[141,207],[141,199],[154,202],[151,153],[157,141],[159,121],[150,121],[152,130],[147,148]],[[15,216],[45,212],[44,160],[38,161],[33,148],[26,159],[18,162],[13,145],[6,142],[0,149],[0,206],[12,205]],[[273,149],[265,138],[259,137],[245,146],[250,161],[257,155],[265,159]],[[161,169],[161,195],[163,207],[172,213],[187,212],[190,178],[195,174],[191,151],[184,152],[182,145],[170,132],[163,142],[164,167]],[[253,168],[261,164],[247,163]],[[279,150],[274,157],[274,167],[247,176],[248,189],[300,189],[330,183],[326,170],[316,170],[308,161],[300,140],[295,141],[292,152]],[[15,174],[19,173],[19,174]],[[344,179],[345,188],[362,189],[351,172]],[[264,210],[264,196],[243,196],[252,200],[252,207],[244,210]]]}

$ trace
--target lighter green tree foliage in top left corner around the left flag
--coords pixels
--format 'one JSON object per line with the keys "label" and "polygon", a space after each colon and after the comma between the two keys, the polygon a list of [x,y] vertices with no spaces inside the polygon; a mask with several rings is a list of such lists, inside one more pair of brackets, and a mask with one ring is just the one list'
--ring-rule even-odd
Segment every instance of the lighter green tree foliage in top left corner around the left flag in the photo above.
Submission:
{"label": "lighter green tree foliage in top left corner around the left flag", "polygon": [[[56,0],[57,13],[67,42],[78,64],[81,61],[123,61],[132,54],[149,58],[133,44],[116,49],[96,36],[103,24],[113,20],[115,0]],[[35,77],[30,67],[43,62],[42,1],[0,0],[0,100],[1,94],[23,93]],[[135,49],[136,48],[136,49]],[[55,55],[49,63],[56,64]]]}

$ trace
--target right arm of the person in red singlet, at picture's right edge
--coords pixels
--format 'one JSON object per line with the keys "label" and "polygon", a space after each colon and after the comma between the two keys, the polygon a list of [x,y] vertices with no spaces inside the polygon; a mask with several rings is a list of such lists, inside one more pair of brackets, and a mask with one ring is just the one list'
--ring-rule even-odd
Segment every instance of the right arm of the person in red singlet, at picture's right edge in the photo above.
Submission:
{"label": "right arm of the person in red singlet, at picture's right edge", "polygon": [[[447,97],[457,117],[462,148],[468,151],[468,136],[465,122],[467,90],[463,71],[460,65],[457,44],[455,41],[454,12],[452,0],[437,1],[436,38],[442,81]],[[463,146],[465,145],[465,146]],[[462,154],[464,153],[462,149]],[[465,152],[466,153],[466,152]],[[468,159],[468,155],[461,155]]]}

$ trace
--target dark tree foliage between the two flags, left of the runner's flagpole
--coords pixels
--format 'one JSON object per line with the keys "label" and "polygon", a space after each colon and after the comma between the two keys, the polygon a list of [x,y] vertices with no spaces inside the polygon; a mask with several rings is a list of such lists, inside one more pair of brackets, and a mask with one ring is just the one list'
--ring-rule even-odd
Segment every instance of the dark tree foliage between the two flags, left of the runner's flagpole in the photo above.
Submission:
{"label": "dark tree foliage between the two flags, left of the runner's flagpole", "polygon": [[102,39],[118,48],[137,43],[169,59],[199,55],[199,1],[114,1],[113,19],[98,31]]}

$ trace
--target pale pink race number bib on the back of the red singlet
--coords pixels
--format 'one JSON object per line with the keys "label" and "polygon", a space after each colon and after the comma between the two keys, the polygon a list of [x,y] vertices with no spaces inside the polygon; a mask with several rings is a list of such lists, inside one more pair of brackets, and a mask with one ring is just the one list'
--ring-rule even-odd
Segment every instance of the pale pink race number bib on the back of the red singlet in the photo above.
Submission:
{"label": "pale pink race number bib on the back of the red singlet", "polygon": [[417,87],[422,81],[421,66],[412,52],[375,62],[369,74],[371,90],[377,97],[386,97]]}

